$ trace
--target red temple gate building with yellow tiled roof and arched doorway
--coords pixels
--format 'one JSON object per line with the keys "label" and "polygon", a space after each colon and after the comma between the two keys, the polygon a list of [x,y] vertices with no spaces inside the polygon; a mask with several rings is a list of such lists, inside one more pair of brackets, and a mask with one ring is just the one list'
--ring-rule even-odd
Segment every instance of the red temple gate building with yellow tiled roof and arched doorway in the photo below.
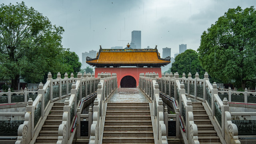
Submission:
{"label": "red temple gate building with yellow tiled roof and arched doorway", "polygon": [[[130,45],[128,44],[129,48]],[[155,49],[102,49],[96,58],[86,58],[86,63],[96,66],[95,76],[101,72],[117,74],[118,87],[136,88],[140,73],[156,72],[161,76],[161,66],[170,63],[170,57],[160,58]]]}

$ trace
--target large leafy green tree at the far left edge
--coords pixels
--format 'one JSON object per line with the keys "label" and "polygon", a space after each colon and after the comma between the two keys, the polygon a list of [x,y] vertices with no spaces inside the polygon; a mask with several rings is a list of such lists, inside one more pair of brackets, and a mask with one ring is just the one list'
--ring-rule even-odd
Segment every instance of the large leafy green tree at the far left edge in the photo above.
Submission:
{"label": "large leafy green tree at the far left edge", "polygon": [[47,17],[28,8],[24,2],[0,5],[0,79],[12,80],[18,88],[18,78],[27,82],[42,80],[59,64],[62,27],[53,26]]}

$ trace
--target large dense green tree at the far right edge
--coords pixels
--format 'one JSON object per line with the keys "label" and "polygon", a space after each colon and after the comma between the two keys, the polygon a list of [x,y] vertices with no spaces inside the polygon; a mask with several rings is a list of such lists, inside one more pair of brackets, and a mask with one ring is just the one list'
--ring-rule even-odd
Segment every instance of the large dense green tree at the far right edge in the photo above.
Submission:
{"label": "large dense green tree at the far right edge", "polygon": [[238,88],[256,79],[256,11],[230,8],[201,36],[202,67],[214,78]]}

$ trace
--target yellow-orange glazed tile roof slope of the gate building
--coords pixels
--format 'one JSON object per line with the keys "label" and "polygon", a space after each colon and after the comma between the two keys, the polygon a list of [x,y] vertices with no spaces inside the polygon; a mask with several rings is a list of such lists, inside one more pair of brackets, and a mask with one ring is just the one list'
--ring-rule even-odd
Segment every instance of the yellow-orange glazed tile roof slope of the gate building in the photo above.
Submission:
{"label": "yellow-orange glazed tile roof slope of the gate building", "polygon": [[161,64],[170,61],[159,59],[157,52],[100,52],[98,59],[88,60],[94,64]]}

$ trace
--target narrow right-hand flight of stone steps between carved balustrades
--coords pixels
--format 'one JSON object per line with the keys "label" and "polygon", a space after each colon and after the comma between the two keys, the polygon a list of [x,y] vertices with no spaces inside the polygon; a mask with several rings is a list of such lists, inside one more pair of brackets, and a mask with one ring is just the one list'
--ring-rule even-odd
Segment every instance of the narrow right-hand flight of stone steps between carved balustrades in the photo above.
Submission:
{"label": "narrow right-hand flight of stone steps between carved balustrades", "polygon": [[198,129],[200,144],[221,144],[211,120],[208,118],[202,102],[192,102],[194,123]]}

